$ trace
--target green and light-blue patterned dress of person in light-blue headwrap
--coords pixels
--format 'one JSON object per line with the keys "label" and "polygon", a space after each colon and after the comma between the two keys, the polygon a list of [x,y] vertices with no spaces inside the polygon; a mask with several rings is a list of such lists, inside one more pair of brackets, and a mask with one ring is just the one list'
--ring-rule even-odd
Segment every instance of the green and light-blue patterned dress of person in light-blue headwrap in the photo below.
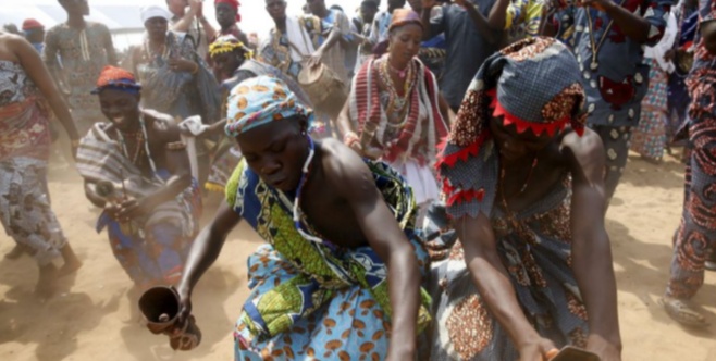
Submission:
{"label": "green and light-blue patterned dress of person in light-blue headwrap", "polygon": [[[384,163],[368,165],[424,275],[428,253],[413,228],[410,188]],[[226,186],[234,211],[269,242],[248,259],[251,294],[234,331],[235,359],[385,359],[391,314],[385,263],[370,247],[342,249],[304,238],[293,221],[293,197],[264,184],[246,161]],[[423,290],[419,329],[430,321],[429,304]]]}

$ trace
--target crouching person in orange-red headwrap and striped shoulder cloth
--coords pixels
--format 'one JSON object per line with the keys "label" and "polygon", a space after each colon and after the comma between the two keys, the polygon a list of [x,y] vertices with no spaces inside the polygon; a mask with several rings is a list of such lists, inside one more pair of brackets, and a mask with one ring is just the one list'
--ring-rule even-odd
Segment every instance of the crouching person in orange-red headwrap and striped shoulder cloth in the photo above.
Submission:
{"label": "crouching person in orange-red headwrap and striped shoulder cloth", "polygon": [[135,285],[174,284],[198,232],[201,197],[171,116],[139,108],[132,73],[107,66],[97,80],[102,113],[82,139],[77,170],[85,194],[103,208],[114,257]]}

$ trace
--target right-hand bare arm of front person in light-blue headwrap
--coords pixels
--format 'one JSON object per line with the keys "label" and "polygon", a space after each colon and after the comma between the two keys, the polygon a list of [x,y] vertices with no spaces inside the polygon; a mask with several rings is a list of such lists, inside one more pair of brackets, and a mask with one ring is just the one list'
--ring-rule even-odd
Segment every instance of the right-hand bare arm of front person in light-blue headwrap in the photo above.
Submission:
{"label": "right-hand bare arm of front person in light-blue headwrap", "polygon": [[412,246],[375,187],[363,161],[340,146],[336,159],[325,165],[329,182],[358,217],[368,244],[387,266],[391,298],[391,360],[411,360],[416,352],[416,324],[420,300],[420,271]]}

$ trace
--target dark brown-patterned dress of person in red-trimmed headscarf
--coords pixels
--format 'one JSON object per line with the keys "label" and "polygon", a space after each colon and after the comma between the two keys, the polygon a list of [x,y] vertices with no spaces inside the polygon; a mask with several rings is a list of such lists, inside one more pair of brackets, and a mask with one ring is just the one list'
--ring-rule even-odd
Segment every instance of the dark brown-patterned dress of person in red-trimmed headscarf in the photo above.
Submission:
{"label": "dark brown-patterned dress of person in red-trimmed headscarf", "polygon": [[[571,180],[528,209],[510,214],[494,207],[497,252],[528,320],[558,347],[584,346],[587,310],[571,270]],[[492,315],[466,266],[462,246],[453,246],[432,270],[435,304],[430,360],[517,360],[518,349]]]}

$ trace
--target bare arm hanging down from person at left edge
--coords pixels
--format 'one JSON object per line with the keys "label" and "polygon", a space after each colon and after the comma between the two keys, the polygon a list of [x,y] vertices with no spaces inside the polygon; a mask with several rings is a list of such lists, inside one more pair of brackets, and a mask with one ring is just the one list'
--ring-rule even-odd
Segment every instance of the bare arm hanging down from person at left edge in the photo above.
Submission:
{"label": "bare arm hanging down from person at left edge", "polygon": [[25,69],[25,73],[27,73],[29,78],[33,79],[33,83],[35,83],[37,88],[47,99],[54,115],[60,120],[65,132],[67,132],[70,140],[73,142],[79,140],[79,135],[77,134],[75,124],[72,121],[72,115],[70,115],[67,104],[64,102],[54,82],[52,82],[52,76],[45,66],[45,63],[42,63],[40,55],[33,46],[22,37],[13,36],[10,41],[11,49],[15,51],[20,64],[22,64],[23,69]]}

